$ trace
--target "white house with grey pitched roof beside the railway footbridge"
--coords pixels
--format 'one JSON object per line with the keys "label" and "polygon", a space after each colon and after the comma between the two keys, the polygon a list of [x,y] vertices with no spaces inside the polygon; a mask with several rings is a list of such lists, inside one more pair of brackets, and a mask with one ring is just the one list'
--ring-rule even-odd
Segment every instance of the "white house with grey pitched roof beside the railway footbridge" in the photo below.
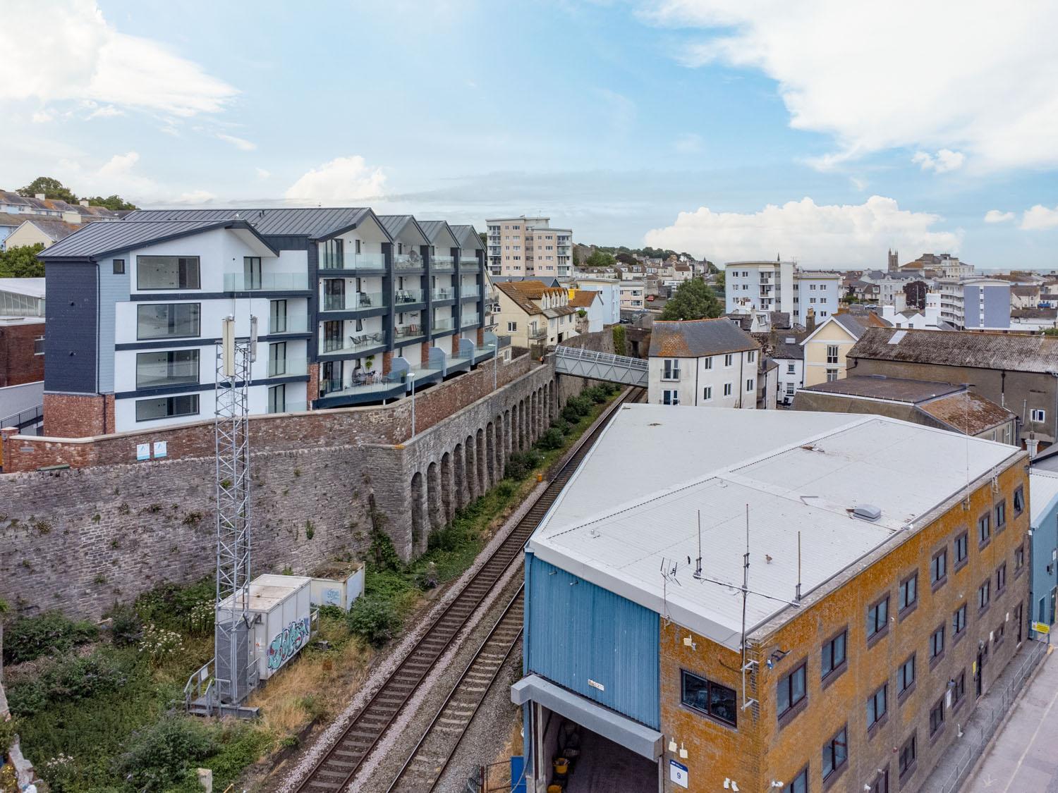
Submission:
{"label": "white house with grey pitched roof beside the railway footbridge", "polygon": [[654,405],[756,408],[761,346],[730,319],[655,320],[647,400]]}

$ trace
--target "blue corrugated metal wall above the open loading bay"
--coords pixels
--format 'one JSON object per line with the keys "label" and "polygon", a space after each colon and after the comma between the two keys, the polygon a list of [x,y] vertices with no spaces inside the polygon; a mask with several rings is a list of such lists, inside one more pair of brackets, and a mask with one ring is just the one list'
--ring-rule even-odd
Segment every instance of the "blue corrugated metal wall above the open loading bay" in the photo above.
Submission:
{"label": "blue corrugated metal wall above the open loading bay", "polygon": [[656,612],[527,553],[525,620],[527,674],[660,729]]}

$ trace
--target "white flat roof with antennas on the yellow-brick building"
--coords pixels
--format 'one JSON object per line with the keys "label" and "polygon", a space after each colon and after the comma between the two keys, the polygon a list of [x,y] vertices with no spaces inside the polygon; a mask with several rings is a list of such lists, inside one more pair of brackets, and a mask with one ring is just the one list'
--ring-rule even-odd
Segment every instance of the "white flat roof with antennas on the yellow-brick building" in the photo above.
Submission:
{"label": "white flat roof with antennas on the yellow-brick building", "polygon": [[[799,532],[806,596],[965,488],[967,459],[972,480],[1018,454],[884,417],[632,405],[528,550],[737,649],[747,505],[749,633],[795,600]],[[852,517],[867,504],[876,522]]]}

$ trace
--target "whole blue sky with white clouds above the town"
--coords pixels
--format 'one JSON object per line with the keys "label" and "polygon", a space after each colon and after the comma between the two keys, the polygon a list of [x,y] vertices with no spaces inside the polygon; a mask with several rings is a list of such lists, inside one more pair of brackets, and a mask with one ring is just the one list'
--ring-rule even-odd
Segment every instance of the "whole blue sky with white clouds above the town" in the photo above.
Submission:
{"label": "whole blue sky with white clouds above the town", "polygon": [[3,0],[0,187],[1052,269],[1055,34],[1032,0]]}

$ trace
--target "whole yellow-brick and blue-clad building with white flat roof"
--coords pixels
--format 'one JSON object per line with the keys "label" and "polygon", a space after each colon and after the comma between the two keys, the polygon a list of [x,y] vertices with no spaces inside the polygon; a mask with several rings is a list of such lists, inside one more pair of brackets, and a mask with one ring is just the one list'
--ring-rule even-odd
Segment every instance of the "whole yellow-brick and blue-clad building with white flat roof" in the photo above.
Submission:
{"label": "whole yellow-brick and blue-clad building with white flat roof", "polygon": [[619,411],[526,547],[527,790],[570,748],[570,788],[940,790],[1027,639],[1026,461],[882,417]]}

